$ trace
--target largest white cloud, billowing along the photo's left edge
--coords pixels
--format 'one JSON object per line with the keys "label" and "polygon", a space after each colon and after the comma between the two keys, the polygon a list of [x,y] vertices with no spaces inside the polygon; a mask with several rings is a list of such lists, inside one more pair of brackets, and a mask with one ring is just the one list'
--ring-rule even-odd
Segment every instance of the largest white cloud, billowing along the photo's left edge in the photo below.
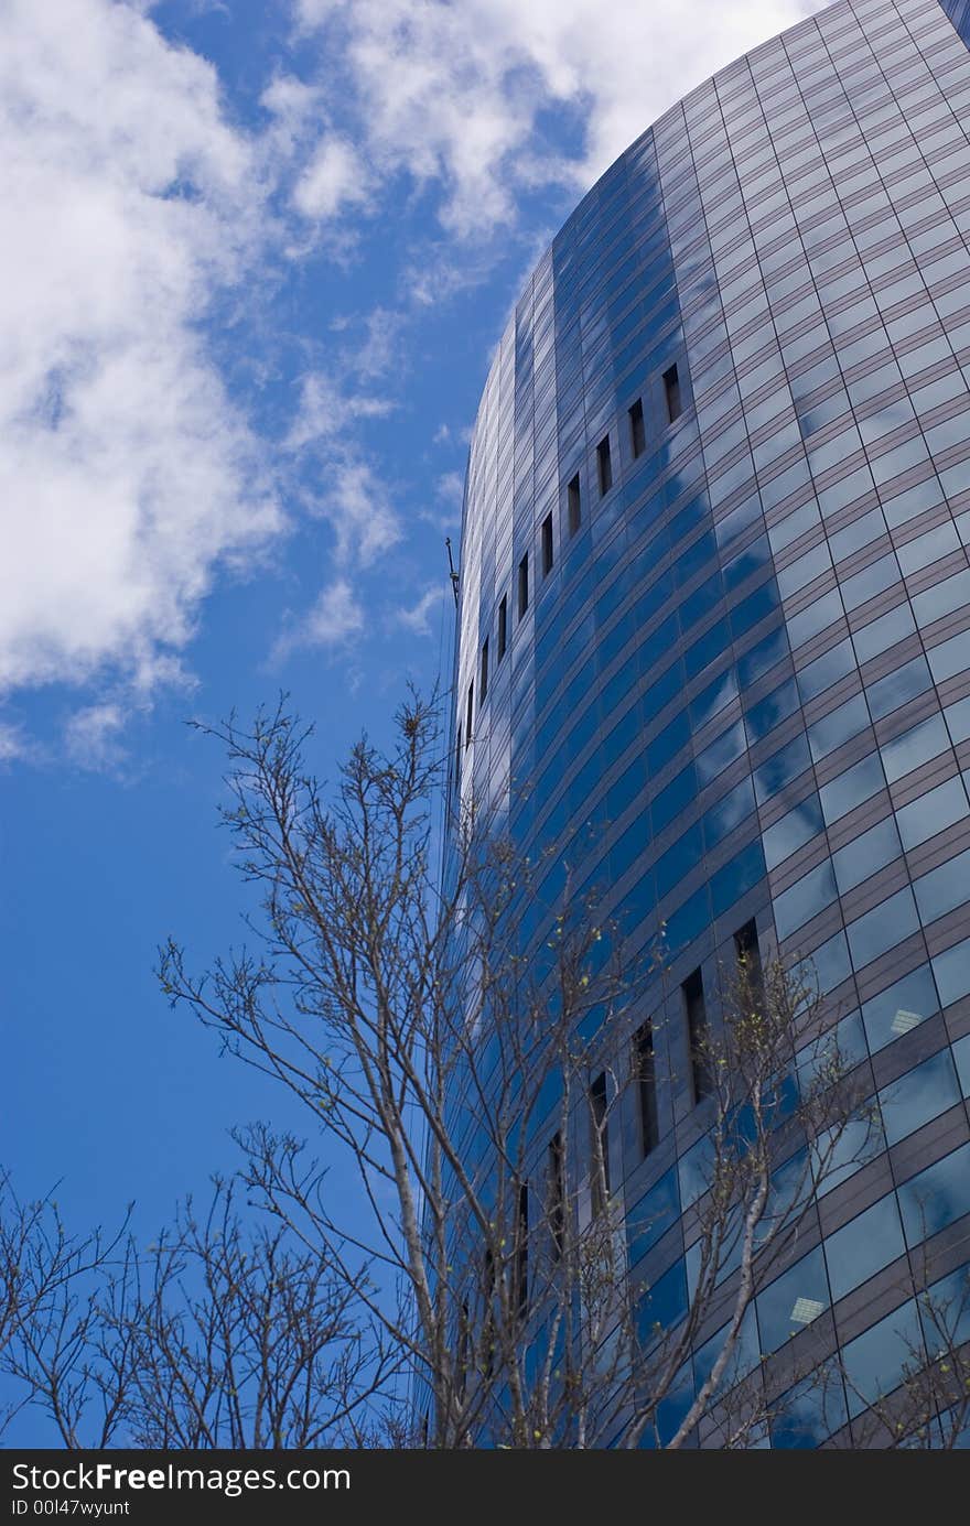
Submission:
{"label": "largest white cloud, billowing along the photo's left edge", "polygon": [[9,0],[0,131],[0,688],[150,687],[283,523],[199,327],[260,244],[260,162],[212,67],[107,0]]}

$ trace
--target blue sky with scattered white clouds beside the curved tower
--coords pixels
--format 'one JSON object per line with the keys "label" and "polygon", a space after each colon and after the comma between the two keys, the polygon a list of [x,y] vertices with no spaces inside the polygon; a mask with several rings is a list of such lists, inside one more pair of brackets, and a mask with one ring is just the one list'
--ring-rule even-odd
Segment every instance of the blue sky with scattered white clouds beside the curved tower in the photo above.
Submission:
{"label": "blue sky with scattered white clouds beside the curved tower", "polygon": [[0,1163],[151,1233],[278,1106],[157,990],[240,937],[223,760],[449,668],[467,429],[539,252],[807,0],[8,0]]}

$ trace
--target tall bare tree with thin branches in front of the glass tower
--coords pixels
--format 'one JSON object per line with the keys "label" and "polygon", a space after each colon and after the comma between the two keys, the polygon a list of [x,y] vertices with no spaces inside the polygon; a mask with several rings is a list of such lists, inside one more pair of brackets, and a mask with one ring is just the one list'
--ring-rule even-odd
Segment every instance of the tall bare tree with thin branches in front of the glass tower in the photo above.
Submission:
{"label": "tall bare tree with thin branches in front of the glass tower", "polygon": [[306,1106],[331,1170],[356,1173],[365,1212],[345,1222],[299,1138],[240,1135],[252,1196],[325,1250],[400,1352],[417,1439],[678,1448],[703,1431],[755,1445],[776,1393],[761,1354],[747,1361],[749,1314],[811,1233],[820,1184],[846,1149],[868,1149],[811,972],[742,955],[724,974],[723,1024],[695,1053],[707,1129],[704,1190],[683,1219],[694,1277],[671,1317],[628,1273],[606,1148],[642,1080],[628,1041],[663,986],[663,949],[629,957],[568,888],[558,914],[542,908],[544,864],[467,807],[434,871],[432,703],[402,707],[391,752],[362,740],[330,800],[283,703],[214,736],[231,758],[223,819],[261,896],[257,951],[196,977],[170,942],[163,989]]}

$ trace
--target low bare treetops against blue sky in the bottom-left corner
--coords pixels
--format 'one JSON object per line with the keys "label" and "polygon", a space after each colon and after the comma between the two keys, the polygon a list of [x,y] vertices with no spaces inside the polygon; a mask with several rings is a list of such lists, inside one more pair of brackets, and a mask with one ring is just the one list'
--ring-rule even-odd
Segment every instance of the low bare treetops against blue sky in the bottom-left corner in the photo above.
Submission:
{"label": "low bare treetops against blue sky in the bottom-left corner", "polygon": [[231,1184],[145,1251],[124,1233],[72,1242],[49,1201],[20,1231],[40,1296],[21,1285],[0,1367],[64,1447],[319,1447],[373,1428],[380,1341],[321,1253],[241,1224]]}

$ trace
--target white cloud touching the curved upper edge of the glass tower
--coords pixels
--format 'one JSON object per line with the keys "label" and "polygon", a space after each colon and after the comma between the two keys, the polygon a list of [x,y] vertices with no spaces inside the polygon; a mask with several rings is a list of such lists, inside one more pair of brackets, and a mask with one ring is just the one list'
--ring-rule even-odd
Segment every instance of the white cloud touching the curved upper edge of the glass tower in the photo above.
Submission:
{"label": "white cloud touching the curved upper edge of the glass tower", "polygon": [[[296,0],[339,52],[370,160],[440,180],[441,220],[507,224],[524,185],[588,185],[681,95],[825,0]],[[571,108],[585,151],[542,148],[539,113]]]}

